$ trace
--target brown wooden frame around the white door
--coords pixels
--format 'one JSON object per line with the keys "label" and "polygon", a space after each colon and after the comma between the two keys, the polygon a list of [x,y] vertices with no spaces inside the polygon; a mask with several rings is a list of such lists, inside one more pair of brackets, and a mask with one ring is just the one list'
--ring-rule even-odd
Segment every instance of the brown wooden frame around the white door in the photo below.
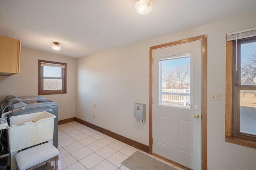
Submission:
{"label": "brown wooden frame around the white door", "polygon": [[[152,111],[153,111],[153,50],[172,45],[202,40],[202,170],[207,170],[207,35],[197,36],[176,42],[164,43],[150,47],[149,51],[149,147],[152,154]],[[156,101],[155,101],[156,102]]]}

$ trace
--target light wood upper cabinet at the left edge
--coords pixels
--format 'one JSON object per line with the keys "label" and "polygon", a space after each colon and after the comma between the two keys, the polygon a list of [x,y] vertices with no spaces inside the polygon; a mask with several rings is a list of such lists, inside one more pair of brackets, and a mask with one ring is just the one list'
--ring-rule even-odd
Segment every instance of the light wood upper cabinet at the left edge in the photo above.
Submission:
{"label": "light wood upper cabinet at the left edge", "polygon": [[0,36],[0,75],[20,73],[20,40]]}

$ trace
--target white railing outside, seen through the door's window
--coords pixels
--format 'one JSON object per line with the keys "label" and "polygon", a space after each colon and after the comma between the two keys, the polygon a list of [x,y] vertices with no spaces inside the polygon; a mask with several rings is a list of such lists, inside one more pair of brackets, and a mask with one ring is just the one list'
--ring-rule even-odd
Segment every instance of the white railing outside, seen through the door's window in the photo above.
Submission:
{"label": "white railing outside, seen through the door's window", "polygon": [[190,104],[190,89],[162,89],[162,101],[179,102],[183,106]]}

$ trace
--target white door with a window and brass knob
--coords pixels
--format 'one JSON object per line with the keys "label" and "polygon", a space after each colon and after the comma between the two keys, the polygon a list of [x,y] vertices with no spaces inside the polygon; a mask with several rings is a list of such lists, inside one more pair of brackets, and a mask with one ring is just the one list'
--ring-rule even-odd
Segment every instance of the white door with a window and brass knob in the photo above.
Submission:
{"label": "white door with a window and brass knob", "polygon": [[153,50],[152,151],[200,170],[202,40]]}

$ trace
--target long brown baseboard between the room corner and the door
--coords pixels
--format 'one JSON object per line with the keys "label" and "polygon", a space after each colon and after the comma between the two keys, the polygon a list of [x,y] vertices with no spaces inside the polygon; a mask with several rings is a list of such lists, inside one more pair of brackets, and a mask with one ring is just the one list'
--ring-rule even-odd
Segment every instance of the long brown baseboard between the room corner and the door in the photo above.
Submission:
{"label": "long brown baseboard between the room corner and the door", "polygon": [[108,135],[108,136],[110,136],[110,137],[112,137],[112,138],[115,138],[116,140],[120,140],[121,142],[124,142],[124,143],[126,143],[126,144],[128,144],[128,145],[130,145],[130,146],[133,146],[134,148],[137,148],[137,149],[139,149],[139,150],[142,150],[142,151],[148,153],[148,146],[145,145],[145,144],[142,144],[142,143],[140,143],[140,142],[136,142],[135,140],[126,138],[126,137],[124,137],[124,136],[122,136],[122,135],[119,135],[119,134],[116,134],[116,133],[111,132],[111,131],[109,131],[109,130],[106,130],[106,129],[104,129],[104,128],[98,127],[98,126],[96,126],[96,125],[93,125],[93,124],[91,124],[91,123],[88,123],[88,122],[86,122],[86,121],[83,121],[83,120],[81,120],[81,119],[78,119],[78,118],[76,118],[76,117],[75,117],[75,121],[78,122],[78,123],[81,123],[82,125],[85,125],[85,126],[87,126],[87,127],[90,127],[90,128],[92,128],[92,129],[94,129],[94,130],[97,130],[97,131],[99,131],[99,132],[101,132],[101,133],[103,133],[103,134],[106,134],[106,135]]}

